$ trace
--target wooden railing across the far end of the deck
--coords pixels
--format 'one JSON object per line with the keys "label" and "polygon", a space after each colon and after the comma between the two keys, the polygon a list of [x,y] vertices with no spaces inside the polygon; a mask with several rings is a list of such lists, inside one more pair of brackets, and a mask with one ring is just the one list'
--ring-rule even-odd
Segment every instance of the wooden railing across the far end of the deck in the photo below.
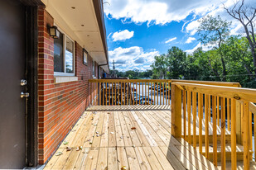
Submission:
{"label": "wooden railing across the far end of the deck", "polygon": [[171,105],[171,80],[90,79],[92,105]]}

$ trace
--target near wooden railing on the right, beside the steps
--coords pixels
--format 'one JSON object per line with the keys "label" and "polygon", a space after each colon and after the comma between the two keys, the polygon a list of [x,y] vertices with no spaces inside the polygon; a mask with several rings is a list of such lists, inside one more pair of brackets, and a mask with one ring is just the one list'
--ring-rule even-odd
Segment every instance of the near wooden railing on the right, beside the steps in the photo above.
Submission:
{"label": "near wooden railing on the right, beside the steps", "polygon": [[[232,169],[237,168],[238,144],[244,150],[243,158],[240,158],[244,162],[244,169],[249,169],[252,160],[252,113],[256,113],[253,104],[256,102],[256,90],[241,88],[238,83],[187,82],[189,81],[172,80],[171,83],[171,135],[182,137],[194,148],[199,148],[200,153],[205,154],[205,158],[215,166],[220,153],[221,168],[225,169],[226,158],[229,156],[226,143],[231,130]],[[255,131],[254,126],[254,135]],[[217,151],[217,147],[221,152]]]}

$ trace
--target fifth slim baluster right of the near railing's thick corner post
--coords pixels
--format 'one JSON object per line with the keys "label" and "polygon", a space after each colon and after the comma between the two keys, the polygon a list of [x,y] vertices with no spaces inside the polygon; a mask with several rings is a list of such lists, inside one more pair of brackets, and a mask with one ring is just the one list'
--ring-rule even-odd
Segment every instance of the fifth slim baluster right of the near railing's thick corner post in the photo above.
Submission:
{"label": "fifth slim baluster right of the near railing's thick corner post", "polygon": [[205,94],[205,158],[209,158],[209,95]]}

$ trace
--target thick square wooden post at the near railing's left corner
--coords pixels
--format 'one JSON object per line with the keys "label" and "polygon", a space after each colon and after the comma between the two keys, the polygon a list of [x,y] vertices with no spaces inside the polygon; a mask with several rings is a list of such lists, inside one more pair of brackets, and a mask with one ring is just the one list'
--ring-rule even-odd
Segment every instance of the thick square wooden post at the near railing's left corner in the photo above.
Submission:
{"label": "thick square wooden post at the near railing's left corner", "polygon": [[171,135],[181,138],[181,89],[171,84]]}

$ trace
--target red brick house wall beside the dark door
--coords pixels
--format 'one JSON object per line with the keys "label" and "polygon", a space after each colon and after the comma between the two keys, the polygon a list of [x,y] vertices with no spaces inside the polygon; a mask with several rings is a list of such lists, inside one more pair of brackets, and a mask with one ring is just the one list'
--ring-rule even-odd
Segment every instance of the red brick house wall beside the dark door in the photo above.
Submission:
{"label": "red brick house wall beside the dark door", "polygon": [[[54,19],[39,7],[38,10],[38,152],[39,163],[51,157],[71,127],[89,106],[89,83],[92,78],[92,59],[83,64],[83,49],[75,42],[75,76],[78,81],[54,83],[54,40],[47,31]],[[95,66],[97,73],[97,65]],[[97,74],[96,74],[97,75]]]}

